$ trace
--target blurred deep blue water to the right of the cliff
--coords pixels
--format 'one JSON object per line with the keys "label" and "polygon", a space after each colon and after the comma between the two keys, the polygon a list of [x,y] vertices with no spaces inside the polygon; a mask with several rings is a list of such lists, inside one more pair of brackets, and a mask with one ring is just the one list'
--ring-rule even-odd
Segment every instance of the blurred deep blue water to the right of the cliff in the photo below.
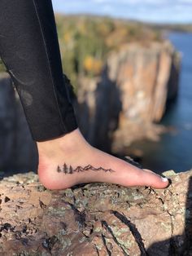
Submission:
{"label": "blurred deep blue water to the right of the cliff", "polygon": [[177,101],[161,123],[176,132],[162,135],[159,143],[142,141],[132,147],[142,150],[142,166],[156,172],[192,168],[192,33],[170,33],[168,38],[182,54],[181,77]]}

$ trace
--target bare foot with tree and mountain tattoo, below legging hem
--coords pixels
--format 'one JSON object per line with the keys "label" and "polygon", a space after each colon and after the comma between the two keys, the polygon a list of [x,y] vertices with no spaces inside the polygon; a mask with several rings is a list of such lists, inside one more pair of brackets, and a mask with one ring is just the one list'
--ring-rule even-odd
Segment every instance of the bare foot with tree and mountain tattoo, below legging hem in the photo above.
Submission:
{"label": "bare foot with tree and mountain tattoo, below legging hem", "polygon": [[57,139],[37,142],[37,148],[39,179],[46,188],[64,189],[94,182],[168,187],[168,179],[93,148],[78,129]]}

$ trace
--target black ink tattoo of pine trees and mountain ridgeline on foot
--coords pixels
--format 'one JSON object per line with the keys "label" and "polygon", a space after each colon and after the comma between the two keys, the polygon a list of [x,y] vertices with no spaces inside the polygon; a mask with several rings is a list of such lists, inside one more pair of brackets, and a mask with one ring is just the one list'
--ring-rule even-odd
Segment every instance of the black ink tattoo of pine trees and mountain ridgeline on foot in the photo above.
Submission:
{"label": "black ink tattoo of pine trees and mountain ridgeline on foot", "polygon": [[85,167],[82,167],[82,166],[77,166],[75,169],[72,168],[72,166],[67,166],[66,163],[63,164],[62,167],[58,166],[57,167],[57,171],[59,173],[64,173],[64,174],[74,174],[76,172],[82,172],[82,171],[85,171],[85,170],[94,170],[94,171],[98,171],[98,170],[103,170],[104,172],[115,172],[115,170],[111,170],[111,169],[104,169],[103,167],[98,167],[98,168],[95,168],[94,166],[91,166],[91,165],[88,165],[88,166],[85,166]]}

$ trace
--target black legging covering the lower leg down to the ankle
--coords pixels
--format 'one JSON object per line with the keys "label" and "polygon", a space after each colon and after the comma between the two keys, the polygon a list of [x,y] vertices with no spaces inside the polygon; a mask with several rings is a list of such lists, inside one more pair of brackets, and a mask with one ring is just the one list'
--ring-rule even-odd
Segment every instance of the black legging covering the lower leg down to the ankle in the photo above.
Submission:
{"label": "black legging covering the lower leg down to the ankle", "polygon": [[0,0],[0,56],[34,140],[53,139],[77,128],[51,0]]}

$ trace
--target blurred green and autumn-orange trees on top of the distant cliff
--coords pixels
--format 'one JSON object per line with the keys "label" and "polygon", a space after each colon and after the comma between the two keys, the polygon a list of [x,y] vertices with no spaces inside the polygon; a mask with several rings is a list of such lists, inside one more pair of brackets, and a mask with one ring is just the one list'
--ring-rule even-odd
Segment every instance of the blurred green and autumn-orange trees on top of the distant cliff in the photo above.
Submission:
{"label": "blurred green and autumn-orange trees on top of the distant cliff", "polygon": [[63,72],[75,87],[78,76],[94,77],[101,73],[110,51],[116,51],[128,42],[145,43],[161,38],[158,30],[128,20],[59,14],[55,15],[55,20]]}

